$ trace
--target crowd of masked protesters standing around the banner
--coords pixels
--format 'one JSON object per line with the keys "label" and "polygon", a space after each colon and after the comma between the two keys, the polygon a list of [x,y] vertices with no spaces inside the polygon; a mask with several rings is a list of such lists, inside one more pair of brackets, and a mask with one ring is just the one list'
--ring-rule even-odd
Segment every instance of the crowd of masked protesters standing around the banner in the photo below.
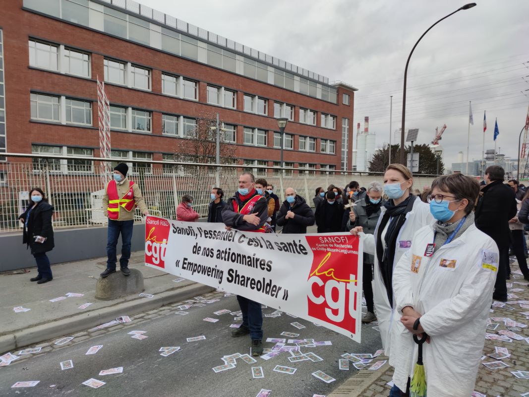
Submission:
{"label": "crowd of masked protesters standing around the banner", "polygon": [[[108,216],[106,277],[116,271],[117,239],[122,237],[121,272],[130,274],[133,210],[147,215],[139,187],[118,164],[103,199]],[[481,183],[460,173],[437,177],[422,191],[400,164],[390,164],[384,184],[366,187],[351,181],[344,188],[318,187],[314,210],[292,187],[280,201],[274,186],[253,174],[239,177],[239,188],[224,200],[220,187],[211,190],[207,222],[252,232],[350,232],[363,241],[363,293],[367,314],[378,320],[389,363],[395,368],[391,396],[407,395],[417,344],[427,340],[424,363],[428,393],[467,397],[472,393],[492,299],[506,302],[509,256],[516,256],[529,281],[525,228],[529,225],[529,189],[490,166]],[[177,220],[195,222],[194,198],[185,194]],[[20,215],[23,242],[31,248],[39,284],[51,281],[46,252],[53,248],[53,207],[40,188],[30,192],[30,205]],[[237,296],[242,325],[233,337],[250,335],[252,355],[262,354],[261,304]]]}

